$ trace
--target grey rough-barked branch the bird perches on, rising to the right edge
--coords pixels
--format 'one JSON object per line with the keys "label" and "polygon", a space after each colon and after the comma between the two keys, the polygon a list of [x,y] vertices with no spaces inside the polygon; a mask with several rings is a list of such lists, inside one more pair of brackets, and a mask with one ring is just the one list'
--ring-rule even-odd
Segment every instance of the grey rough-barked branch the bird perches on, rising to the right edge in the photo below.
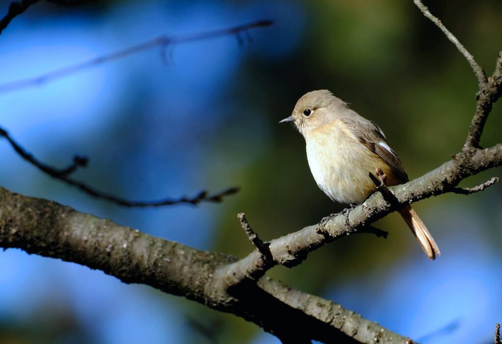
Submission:
{"label": "grey rough-barked branch the bird perches on, rising to the right edge", "polygon": [[[238,285],[248,280],[255,280],[275,265],[293,267],[301,263],[309,252],[357,233],[383,235],[369,225],[395,210],[431,196],[454,192],[455,187],[464,178],[478,174],[494,166],[502,165],[502,144],[478,150],[470,158],[450,160],[433,171],[403,185],[388,188],[396,202],[388,202],[387,196],[374,193],[364,203],[350,211],[351,226],[347,226],[345,217],[338,214],[326,222],[312,225],[300,231],[274,239],[269,243],[271,260],[264,259],[258,250],[247,257],[224,268],[228,285]],[[375,232],[380,231],[379,232]]]}

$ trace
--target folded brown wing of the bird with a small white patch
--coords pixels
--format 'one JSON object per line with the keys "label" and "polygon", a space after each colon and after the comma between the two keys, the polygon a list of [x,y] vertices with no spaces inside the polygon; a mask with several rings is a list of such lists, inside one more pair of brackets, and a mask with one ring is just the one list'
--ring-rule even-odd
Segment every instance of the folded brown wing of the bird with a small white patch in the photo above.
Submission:
{"label": "folded brown wing of the bird with a small white patch", "polygon": [[408,182],[408,175],[403,164],[396,152],[387,143],[382,129],[373,121],[363,117],[360,117],[360,120],[357,120],[357,123],[354,124],[351,127],[359,142],[384,160],[403,183]]}

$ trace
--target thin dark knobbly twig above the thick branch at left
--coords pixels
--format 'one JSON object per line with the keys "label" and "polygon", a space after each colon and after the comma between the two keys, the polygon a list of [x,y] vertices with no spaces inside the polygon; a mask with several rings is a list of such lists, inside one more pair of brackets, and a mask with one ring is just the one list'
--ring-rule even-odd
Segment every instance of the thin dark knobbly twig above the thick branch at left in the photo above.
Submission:
{"label": "thin dark knobbly twig above the thick branch at left", "polygon": [[87,195],[90,195],[92,197],[98,198],[98,199],[103,199],[109,202],[112,202],[114,204],[117,204],[119,206],[123,207],[160,207],[160,206],[170,206],[174,204],[180,204],[180,203],[188,203],[188,204],[199,204],[201,202],[211,202],[211,203],[219,203],[222,201],[222,199],[226,196],[233,195],[238,192],[238,188],[229,188],[226,190],[223,190],[219,193],[216,194],[208,194],[207,191],[201,191],[197,195],[193,197],[180,197],[177,199],[172,199],[172,198],[165,198],[161,200],[154,200],[154,201],[130,201],[126,200],[120,197],[116,197],[114,195],[104,193],[102,191],[96,190],[82,182],[76,181],[74,179],[71,179],[69,175],[73,173],[78,167],[86,167],[89,159],[85,156],[80,156],[80,155],[75,155],[73,157],[73,162],[65,168],[58,169],[52,166],[49,166],[37,158],[35,158],[31,153],[29,153],[26,149],[24,149],[19,143],[17,143],[10,135],[9,133],[0,128],[0,136],[5,137],[11,146],[14,148],[14,150],[26,161],[40,169],[43,173],[49,175],[50,177],[60,180],[62,182],[65,182],[66,184],[69,184],[73,187],[76,187],[86,193]]}

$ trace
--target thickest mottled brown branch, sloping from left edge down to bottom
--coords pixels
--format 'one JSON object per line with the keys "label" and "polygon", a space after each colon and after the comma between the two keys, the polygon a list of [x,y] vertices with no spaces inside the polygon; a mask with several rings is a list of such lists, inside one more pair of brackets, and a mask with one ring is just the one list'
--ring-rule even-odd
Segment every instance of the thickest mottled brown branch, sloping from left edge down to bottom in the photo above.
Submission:
{"label": "thickest mottled brown branch, sloping from left edge down to bottom", "polygon": [[[407,338],[342,306],[264,277],[228,288],[237,261],[0,188],[0,247],[86,265],[255,322],[284,342],[403,343]],[[307,330],[308,329],[308,330]],[[348,337],[347,337],[348,336]]]}

